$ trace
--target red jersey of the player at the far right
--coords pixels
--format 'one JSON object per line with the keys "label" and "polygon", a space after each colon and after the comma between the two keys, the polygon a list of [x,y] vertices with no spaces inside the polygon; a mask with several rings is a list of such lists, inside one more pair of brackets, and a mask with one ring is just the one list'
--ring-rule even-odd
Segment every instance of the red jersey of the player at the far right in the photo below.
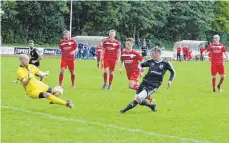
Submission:
{"label": "red jersey of the player at the far right", "polygon": [[212,64],[223,64],[223,53],[227,52],[227,49],[223,44],[212,43],[206,50],[211,55]]}

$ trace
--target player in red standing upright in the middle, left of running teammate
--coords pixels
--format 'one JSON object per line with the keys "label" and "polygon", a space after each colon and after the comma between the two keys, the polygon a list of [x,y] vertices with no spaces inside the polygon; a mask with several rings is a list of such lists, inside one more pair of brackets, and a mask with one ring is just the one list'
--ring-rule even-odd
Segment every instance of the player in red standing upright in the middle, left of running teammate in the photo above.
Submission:
{"label": "player in red standing upright in the middle, left of running teammate", "polygon": [[109,75],[108,89],[111,89],[113,81],[116,61],[119,60],[121,54],[120,42],[115,40],[116,31],[109,31],[109,39],[103,41],[103,48],[101,53],[101,60],[104,68],[104,84],[103,89],[107,87],[107,78]]}

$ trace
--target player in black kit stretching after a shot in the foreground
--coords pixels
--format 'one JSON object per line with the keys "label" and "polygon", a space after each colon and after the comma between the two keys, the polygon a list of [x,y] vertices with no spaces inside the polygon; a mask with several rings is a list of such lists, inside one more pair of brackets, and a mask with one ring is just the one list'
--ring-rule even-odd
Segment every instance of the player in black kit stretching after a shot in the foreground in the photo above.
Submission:
{"label": "player in black kit stretching after a shot in the foreground", "polygon": [[170,62],[161,58],[161,50],[159,48],[154,48],[152,50],[151,60],[147,60],[146,62],[139,64],[140,70],[143,70],[144,67],[149,67],[149,70],[136,92],[135,100],[127,105],[126,108],[120,110],[119,114],[125,113],[138,104],[147,106],[152,111],[156,111],[156,103],[149,103],[146,99],[160,87],[167,70],[170,71],[168,88],[171,87],[172,81],[175,77],[175,70]]}

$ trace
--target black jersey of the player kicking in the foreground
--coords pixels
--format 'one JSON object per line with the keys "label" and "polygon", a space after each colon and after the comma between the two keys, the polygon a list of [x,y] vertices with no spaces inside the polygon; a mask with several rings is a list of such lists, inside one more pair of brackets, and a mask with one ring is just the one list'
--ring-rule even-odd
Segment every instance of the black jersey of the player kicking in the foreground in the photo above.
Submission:
{"label": "black jersey of the player kicking in the foreground", "polygon": [[140,67],[149,67],[148,73],[143,78],[143,82],[159,87],[167,70],[170,71],[169,80],[175,77],[175,70],[170,62],[166,60],[154,61],[147,60],[140,64]]}

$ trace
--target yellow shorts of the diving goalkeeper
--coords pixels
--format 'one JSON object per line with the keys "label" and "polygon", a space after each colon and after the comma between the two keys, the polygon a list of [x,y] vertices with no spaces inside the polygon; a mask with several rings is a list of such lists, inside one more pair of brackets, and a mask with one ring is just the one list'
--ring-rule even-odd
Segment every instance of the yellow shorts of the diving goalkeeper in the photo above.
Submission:
{"label": "yellow shorts of the diving goalkeeper", "polygon": [[40,93],[47,92],[50,88],[47,84],[44,84],[41,81],[37,81],[30,87],[31,88],[27,90],[27,95],[33,99],[39,99]]}

